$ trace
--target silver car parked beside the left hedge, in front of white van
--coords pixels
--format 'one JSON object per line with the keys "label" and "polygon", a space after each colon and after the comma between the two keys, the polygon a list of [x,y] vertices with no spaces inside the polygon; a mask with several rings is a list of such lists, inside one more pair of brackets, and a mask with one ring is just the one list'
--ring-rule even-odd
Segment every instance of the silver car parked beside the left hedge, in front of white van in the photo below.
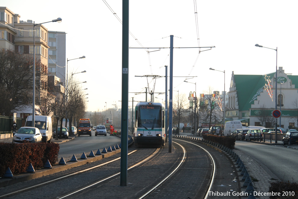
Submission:
{"label": "silver car parked beside the left hedge, in front of white van", "polygon": [[42,134],[36,127],[21,127],[14,134],[12,143],[23,143],[24,141],[31,143],[41,142]]}

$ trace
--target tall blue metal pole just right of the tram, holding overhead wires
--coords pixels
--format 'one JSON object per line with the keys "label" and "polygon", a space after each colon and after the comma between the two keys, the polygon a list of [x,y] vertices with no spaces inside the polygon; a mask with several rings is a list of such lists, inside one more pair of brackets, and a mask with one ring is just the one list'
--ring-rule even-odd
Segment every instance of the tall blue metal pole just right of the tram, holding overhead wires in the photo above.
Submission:
{"label": "tall blue metal pole just right of the tram, holding overhead wires", "polygon": [[173,127],[173,38],[170,35],[170,100],[169,100],[169,153],[172,153],[172,127]]}

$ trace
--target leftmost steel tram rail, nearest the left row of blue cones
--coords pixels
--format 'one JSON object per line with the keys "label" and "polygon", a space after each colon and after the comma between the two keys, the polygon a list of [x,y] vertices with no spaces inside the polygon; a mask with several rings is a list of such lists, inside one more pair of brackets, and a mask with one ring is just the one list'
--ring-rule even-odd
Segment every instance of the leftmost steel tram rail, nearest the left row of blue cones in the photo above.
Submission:
{"label": "leftmost steel tram rail, nearest the left row of blue cones", "polygon": [[[127,155],[130,155],[130,154],[132,154],[132,153],[135,153],[136,151],[137,151],[137,150],[133,150],[132,152],[128,153]],[[54,179],[54,180],[50,180],[50,181],[48,181],[48,182],[43,182],[43,183],[40,183],[40,184],[38,184],[38,185],[34,185],[34,186],[31,186],[31,187],[28,187],[28,188],[24,188],[24,189],[21,189],[21,190],[18,190],[18,191],[14,191],[14,192],[11,192],[11,193],[8,193],[8,194],[4,194],[4,195],[1,195],[0,197],[5,197],[5,196],[11,195],[11,194],[16,194],[16,193],[19,193],[19,192],[22,192],[22,191],[26,191],[26,190],[29,190],[29,189],[32,189],[32,188],[39,187],[39,186],[41,186],[41,185],[46,185],[46,184],[48,184],[48,183],[51,183],[51,182],[54,182],[54,181],[57,181],[57,180],[61,180],[61,179],[63,179],[63,178],[67,178],[67,177],[72,176],[72,175],[76,175],[76,174],[79,174],[79,173],[83,173],[83,172],[89,171],[89,170],[91,170],[91,169],[95,169],[95,168],[100,167],[100,166],[104,166],[104,165],[106,165],[106,164],[115,162],[115,161],[117,161],[117,160],[120,160],[120,157],[119,157],[119,158],[116,158],[116,159],[113,159],[113,160],[110,160],[110,161],[108,161],[108,162],[102,163],[102,164],[100,164],[100,165],[90,167],[90,168],[88,168],[88,169],[84,169],[84,170],[81,170],[81,171],[78,171],[78,172],[75,172],[75,173],[72,173],[72,174],[69,174],[69,175],[62,176],[62,177],[60,177],[60,178],[56,178],[56,179]]]}

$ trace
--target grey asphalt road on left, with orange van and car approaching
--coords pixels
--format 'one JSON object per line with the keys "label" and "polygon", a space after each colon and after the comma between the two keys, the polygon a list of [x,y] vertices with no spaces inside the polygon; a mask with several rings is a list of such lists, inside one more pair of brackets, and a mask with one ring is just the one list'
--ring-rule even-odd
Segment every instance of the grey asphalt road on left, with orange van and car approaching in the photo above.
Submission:
{"label": "grey asphalt road on left, with orange van and car approaching", "polygon": [[120,137],[110,136],[109,134],[107,136],[95,136],[95,131],[92,131],[92,136],[81,135],[70,142],[61,143],[58,160],[62,156],[65,161],[70,160],[73,154],[78,159],[82,156],[83,152],[88,156],[91,150],[93,150],[93,153],[96,153],[98,149],[102,151],[104,147],[108,149],[108,147],[113,147],[113,145],[119,145],[120,143]]}

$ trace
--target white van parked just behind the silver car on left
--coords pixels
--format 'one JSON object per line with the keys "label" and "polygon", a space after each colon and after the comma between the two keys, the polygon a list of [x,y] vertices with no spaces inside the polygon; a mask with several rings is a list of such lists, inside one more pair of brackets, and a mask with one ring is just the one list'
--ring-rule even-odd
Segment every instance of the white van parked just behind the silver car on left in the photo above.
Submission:
{"label": "white van parked just behind the silver car on left", "polygon": [[[52,139],[52,119],[48,115],[35,115],[34,127],[38,128],[42,134],[42,141],[51,143]],[[32,115],[29,115],[25,126],[32,126]]]}

